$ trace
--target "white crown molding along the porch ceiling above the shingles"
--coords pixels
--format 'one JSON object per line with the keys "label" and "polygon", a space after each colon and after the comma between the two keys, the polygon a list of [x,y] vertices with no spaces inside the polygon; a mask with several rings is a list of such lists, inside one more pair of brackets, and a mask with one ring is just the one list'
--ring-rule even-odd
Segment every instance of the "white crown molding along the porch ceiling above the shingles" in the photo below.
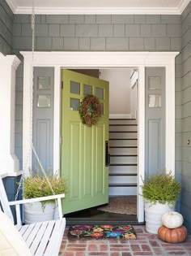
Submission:
{"label": "white crown molding along the porch ceiling above the shingles", "polygon": [[[125,2],[117,2],[115,6],[112,4],[99,4],[94,2],[91,5],[90,2],[83,2],[79,6],[77,4],[55,4],[54,2],[47,6],[46,2],[43,4],[38,3],[35,5],[35,13],[39,15],[181,15],[185,10],[185,7],[189,4],[190,0],[180,0],[177,6],[166,6],[166,7],[144,7],[144,5],[130,7]],[[11,11],[14,14],[32,14],[32,3],[21,5],[18,0],[6,0]]]}

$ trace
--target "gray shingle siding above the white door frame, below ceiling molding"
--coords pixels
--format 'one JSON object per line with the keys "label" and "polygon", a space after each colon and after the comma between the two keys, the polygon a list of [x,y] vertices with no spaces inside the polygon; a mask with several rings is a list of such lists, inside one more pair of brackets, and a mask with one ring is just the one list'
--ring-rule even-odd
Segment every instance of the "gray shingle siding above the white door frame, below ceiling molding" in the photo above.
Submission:
{"label": "gray shingle siding above the white door frame, below ceiling molding", "polygon": [[[14,15],[14,50],[31,49],[30,23],[31,15]],[[96,49],[181,50],[180,15],[36,15],[36,50]]]}

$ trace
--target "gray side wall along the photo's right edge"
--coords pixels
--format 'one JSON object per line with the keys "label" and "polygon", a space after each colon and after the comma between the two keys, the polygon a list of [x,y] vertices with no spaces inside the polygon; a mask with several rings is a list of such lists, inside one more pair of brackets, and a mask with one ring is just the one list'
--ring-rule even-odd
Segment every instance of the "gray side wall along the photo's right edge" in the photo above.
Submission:
{"label": "gray side wall along the photo's right edge", "polygon": [[[181,213],[191,232],[191,2],[181,15],[182,20],[182,192]],[[190,140],[190,145],[187,141]]]}

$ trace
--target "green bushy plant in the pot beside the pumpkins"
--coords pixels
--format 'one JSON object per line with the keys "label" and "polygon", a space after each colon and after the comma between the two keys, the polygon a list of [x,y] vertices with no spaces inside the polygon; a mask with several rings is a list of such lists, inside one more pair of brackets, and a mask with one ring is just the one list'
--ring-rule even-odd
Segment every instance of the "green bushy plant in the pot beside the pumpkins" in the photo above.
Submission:
{"label": "green bushy plant in the pot beside the pumpkins", "polygon": [[158,171],[143,180],[142,197],[152,203],[175,203],[180,189],[180,182],[175,180],[172,171]]}

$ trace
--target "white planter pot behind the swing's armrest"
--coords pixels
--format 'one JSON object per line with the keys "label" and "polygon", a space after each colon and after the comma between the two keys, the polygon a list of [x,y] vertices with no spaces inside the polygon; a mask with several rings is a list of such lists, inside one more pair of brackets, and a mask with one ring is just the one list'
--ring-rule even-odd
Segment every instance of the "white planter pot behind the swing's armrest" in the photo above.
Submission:
{"label": "white planter pot behind the swing's armrest", "polygon": [[42,208],[41,202],[26,203],[23,206],[24,223],[36,223],[54,219],[55,203],[47,202]]}

